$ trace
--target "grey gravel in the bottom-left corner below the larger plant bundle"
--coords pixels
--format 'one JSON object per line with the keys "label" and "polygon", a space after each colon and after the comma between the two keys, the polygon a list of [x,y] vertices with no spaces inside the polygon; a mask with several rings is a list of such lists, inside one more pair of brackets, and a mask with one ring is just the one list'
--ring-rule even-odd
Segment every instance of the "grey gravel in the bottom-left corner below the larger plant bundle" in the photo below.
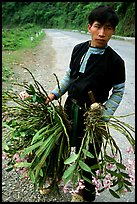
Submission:
{"label": "grey gravel in the bottom-left corner below the larger plant bundle", "polygon": [[69,202],[70,194],[63,191],[49,195],[41,195],[29,179],[20,179],[19,174],[12,170],[5,170],[6,161],[2,161],[2,202]]}

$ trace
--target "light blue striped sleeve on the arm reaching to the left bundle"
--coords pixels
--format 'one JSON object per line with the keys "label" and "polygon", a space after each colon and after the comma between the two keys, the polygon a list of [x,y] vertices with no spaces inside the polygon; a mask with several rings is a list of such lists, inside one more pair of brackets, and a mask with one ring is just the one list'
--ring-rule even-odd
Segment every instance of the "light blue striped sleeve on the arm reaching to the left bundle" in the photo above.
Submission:
{"label": "light blue striped sleeve on the arm reaching to the left bundle", "polygon": [[66,70],[63,79],[59,81],[60,89],[58,85],[56,85],[55,89],[53,89],[51,93],[53,93],[56,96],[56,98],[59,98],[67,92],[69,84],[70,84],[70,68]]}

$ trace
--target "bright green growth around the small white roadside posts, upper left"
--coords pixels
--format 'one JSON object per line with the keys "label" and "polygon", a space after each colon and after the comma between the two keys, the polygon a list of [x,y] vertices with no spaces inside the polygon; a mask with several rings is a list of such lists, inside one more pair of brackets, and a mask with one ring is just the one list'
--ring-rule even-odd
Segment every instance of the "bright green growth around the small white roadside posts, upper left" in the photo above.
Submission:
{"label": "bright green growth around the small white roadside posts, upper left", "polygon": [[[38,37],[36,37],[38,35]],[[2,30],[3,50],[18,50],[19,48],[33,48],[44,37],[39,26],[26,24],[21,27]]]}

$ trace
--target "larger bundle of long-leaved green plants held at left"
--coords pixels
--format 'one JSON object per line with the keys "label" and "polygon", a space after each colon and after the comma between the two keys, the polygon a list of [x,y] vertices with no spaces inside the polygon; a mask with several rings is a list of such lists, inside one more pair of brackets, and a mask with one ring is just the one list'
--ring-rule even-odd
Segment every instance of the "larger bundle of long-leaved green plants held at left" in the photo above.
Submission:
{"label": "larger bundle of long-leaved green plants held at left", "polygon": [[[70,150],[66,130],[70,122],[62,106],[45,104],[47,93],[32,77],[34,85],[18,84],[31,97],[21,100],[13,90],[3,96],[9,104],[12,102],[12,105],[3,103],[2,107],[3,128],[6,129],[3,150],[9,159],[8,170],[27,167],[35,187],[43,186],[46,179],[52,177],[52,188],[55,190]],[[35,100],[33,96],[36,96]],[[20,156],[20,164],[16,163],[15,155]]]}

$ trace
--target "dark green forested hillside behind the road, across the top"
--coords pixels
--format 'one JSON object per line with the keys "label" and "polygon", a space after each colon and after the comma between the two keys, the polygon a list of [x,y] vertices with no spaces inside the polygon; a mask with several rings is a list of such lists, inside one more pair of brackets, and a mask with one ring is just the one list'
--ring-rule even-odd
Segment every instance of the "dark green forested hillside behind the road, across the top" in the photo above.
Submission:
{"label": "dark green forested hillside behind the road, across the top", "polygon": [[135,2],[2,2],[3,26],[34,23],[43,28],[87,31],[89,12],[112,5],[120,17],[116,34],[135,36]]}

